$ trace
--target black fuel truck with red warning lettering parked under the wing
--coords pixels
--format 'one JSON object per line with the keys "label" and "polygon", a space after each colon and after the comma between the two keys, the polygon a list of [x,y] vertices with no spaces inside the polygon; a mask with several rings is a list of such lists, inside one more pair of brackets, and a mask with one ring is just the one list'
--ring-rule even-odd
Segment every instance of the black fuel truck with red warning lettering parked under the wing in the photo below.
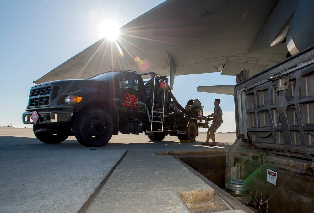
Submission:
{"label": "black fuel truck with red warning lettering parked under the wing", "polygon": [[35,85],[25,111],[23,123],[33,124],[37,139],[50,144],[75,136],[84,146],[100,147],[118,132],[194,141],[198,128],[208,128],[200,101],[182,107],[167,77],[154,72],[110,71]]}

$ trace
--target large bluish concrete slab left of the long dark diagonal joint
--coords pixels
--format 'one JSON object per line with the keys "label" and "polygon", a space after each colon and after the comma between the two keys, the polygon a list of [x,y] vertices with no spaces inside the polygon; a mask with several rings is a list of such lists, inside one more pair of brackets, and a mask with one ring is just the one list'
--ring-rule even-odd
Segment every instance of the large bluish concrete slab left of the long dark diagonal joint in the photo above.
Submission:
{"label": "large bluish concrete slab left of the long dark diagonal joint", "polygon": [[1,212],[77,212],[124,150],[33,144],[0,153]]}

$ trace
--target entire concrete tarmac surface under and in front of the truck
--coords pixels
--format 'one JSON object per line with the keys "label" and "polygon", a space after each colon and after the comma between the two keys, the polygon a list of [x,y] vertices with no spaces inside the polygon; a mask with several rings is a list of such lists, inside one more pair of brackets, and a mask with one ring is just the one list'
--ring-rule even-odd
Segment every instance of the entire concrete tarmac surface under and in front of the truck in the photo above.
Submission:
{"label": "entire concrete tarmac surface under and in front of the truck", "polygon": [[[201,145],[205,138],[157,143],[119,133],[89,148],[75,137],[45,144],[32,128],[0,128],[0,212],[229,212],[216,201],[213,211],[190,210],[178,193],[212,187],[173,156],[155,154],[228,150],[236,133],[217,133],[214,147]],[[231,212],[246,211],[240,209]]]}

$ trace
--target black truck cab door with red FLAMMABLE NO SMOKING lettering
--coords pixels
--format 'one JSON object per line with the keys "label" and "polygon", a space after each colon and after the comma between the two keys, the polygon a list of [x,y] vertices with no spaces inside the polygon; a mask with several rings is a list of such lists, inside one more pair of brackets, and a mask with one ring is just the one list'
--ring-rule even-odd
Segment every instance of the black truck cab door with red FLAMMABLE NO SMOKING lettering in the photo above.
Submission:
{"label": "black truck cab door with red FLAMMABLE NO SMOKING lettering", "polygon": [[118,80],[118,87],[115,90],[115,103],[119,117],[143,118],[145,115],[146,92],[143,79],[137,75],[135,85],[129,84],[130,73],[125,72]]}

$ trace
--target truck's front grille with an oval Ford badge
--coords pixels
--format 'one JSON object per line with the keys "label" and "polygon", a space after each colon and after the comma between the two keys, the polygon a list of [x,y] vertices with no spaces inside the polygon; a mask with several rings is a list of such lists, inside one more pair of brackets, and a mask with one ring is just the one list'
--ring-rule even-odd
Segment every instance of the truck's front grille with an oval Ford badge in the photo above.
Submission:
{"label": "truck's front grille with an oval Ford badge", "polygon": [[50,103],[51,86],[30,90],[29,107],[45,106]]}

